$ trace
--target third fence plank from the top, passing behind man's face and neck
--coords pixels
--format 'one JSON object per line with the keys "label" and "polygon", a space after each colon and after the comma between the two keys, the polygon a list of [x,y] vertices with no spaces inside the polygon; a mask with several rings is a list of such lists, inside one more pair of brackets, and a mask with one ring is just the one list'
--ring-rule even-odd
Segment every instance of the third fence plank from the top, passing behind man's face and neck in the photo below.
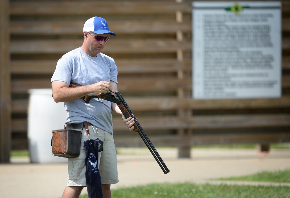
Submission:
{"label": "third fence plank from the top, passing behind man's face and neck", "polygon": [[[12,40],[12,54],[64,54],[80,47],[83,40]],[[125,46],[125,47],[124,47]],[[110,53],[172,53],[178,49],[190,51],[191,42],[176,39],[110,39],[102,52]]]}

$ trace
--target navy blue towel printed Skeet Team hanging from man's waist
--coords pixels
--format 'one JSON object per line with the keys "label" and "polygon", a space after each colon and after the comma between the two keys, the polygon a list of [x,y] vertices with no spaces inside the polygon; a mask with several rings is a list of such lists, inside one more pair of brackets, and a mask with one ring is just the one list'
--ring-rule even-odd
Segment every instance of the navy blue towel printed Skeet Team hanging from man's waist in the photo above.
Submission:
{"label": "navy blue towel printed Skeet Team hanging from man's waist", "polygon": [[99,140],[84,141],[84,149],[88,198],[103,198],[102,181],[98,168]]}

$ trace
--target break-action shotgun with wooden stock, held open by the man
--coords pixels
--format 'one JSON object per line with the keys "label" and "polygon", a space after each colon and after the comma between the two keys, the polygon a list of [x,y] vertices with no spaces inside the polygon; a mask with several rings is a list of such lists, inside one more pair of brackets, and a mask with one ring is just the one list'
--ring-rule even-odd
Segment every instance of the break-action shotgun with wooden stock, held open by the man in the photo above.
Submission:
{"label": "break-action shotgun with wooden stock, held open by the man", "polygon": [[[70,87],[78,87],[78,86],[79,85],[70,84]],[[135,123],[133,125],[134,126],[133,130],[135,132],[138,132],[138,134],[140,135],[140,137],[142,138],[142,140],[146,144],[147,148],[149,149],[149,151],[151,152],[151,154],[155,158],[156,162],[158,163],[160,168],[163,170],[164,174],[169,173],[169,169],[167,168],[166,164],[164,163],[164,161],[160,157],[160,155],[157,152],[157,150],[155,149],[154,145],[152,144],[152,142],[148,138],[147,134],[145,133],[145,131],[141,127],[141,125],[138,122],[137,118],[134,116],[134,114],[131,111],[130,107],[127,105],[127,103],[124,100],[124,98],[121,95],[121,93],[119,91],[116,91],[115,93],[112,93],[112,92],[109,92],[109,93],[106,93],[106,94],[105,93],[99,93],[99,94],[96,94],[96,95],[87,95],[87,96],[84,96],[83,99],[84,99],[85,102],[89,102],[91,98],[101,98],[101,99],[104,99],[104,100],[108,100],[110,102],[114,102],[114,103],[116,103],[118,105],[119,109],[122,111],[122,113],[125,116],[125,118],[129,118],[129,117],[134,118]]]}

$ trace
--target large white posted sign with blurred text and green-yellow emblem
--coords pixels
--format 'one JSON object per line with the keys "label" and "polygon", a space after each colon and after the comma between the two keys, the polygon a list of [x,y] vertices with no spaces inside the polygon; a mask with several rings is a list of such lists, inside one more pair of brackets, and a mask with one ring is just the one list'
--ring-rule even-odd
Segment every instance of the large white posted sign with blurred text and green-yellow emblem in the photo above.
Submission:
{"label": "large white posted sign with blurred text and green-yellow emblem", "polygon": [[193,99],[281,97],[281,3],[193,1]]}

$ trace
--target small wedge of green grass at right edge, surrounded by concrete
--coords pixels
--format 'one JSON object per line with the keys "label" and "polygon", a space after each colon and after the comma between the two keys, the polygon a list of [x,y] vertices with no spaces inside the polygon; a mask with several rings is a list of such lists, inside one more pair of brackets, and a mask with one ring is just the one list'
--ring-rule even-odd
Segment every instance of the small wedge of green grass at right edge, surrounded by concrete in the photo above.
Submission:
{"label": "small wedge of green grass at right edge, surrounded by concrete", "polygon": [[276,172],[263,171],[254,175],[243,177],[220,178],[219,180],[233,181],[267,181],[267,182],[286,182],[290,183],[290,170],[279,170]]}

